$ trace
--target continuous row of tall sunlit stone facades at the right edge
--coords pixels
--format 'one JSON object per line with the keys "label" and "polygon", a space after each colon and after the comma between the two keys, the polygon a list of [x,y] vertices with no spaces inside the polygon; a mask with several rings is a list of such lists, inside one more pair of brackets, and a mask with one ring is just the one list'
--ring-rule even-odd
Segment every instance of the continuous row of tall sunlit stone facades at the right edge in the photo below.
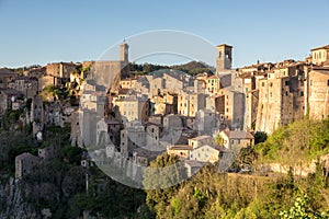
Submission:
{"label": "continuous row of tall sunlit stone facades at the right edge", "polygon": [[306,115],[314,119],[327,117],[326,48],[313,49],[306,61],[258,62],[239,69],[246,93],[245,128],[273,132],[280,125]]}

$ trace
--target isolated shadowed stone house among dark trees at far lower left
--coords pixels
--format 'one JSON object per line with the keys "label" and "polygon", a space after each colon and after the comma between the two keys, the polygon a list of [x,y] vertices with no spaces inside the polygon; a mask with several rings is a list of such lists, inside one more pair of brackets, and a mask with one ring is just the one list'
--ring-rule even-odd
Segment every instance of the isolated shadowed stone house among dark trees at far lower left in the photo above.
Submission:
{"label": "isolated shadowed stone house among dark trees at far lower left", "polygon": [[32,173],[39,164],[41,159],[31,153],[22,153],[15,158],[15,177]]}

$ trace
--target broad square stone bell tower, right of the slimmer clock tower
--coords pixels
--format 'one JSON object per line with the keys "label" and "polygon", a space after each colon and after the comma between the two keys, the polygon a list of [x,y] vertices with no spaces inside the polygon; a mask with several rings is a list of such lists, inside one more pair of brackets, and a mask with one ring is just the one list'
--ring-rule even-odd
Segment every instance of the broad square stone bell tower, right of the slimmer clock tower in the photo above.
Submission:
{"label": "broad square stone bell tower, right of the slimmer clock tower", "polygon": [[222,44],[217,46],[216,72],[220,73],[231,69],[231,49],[232,46]]}

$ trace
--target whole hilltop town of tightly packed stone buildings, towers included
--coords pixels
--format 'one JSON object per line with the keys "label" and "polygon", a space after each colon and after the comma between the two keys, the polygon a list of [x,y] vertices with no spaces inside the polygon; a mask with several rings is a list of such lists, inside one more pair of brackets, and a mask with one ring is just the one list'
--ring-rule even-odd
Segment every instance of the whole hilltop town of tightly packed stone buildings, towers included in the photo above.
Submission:
{"label": "whole hilltop town of tightly packed stone buildings, towers included", "polygon": [[[139,186],[140,173],[163,152],[180,157],[191,176],[205,163],[228,159],[229,165],[230,154],[254,145],[256,132],[271,134],[305,116],[328,117],[329,46],[310,51],[303,61],[232,69],[232,47],[223,44],[213,73],[134,74],[123,43],[117,61],[0,69],[0,127],[31,124],[41,142],[47,127],[70,127],[71,147],[88,149],[81,165],[111,160]],[[9,115],[18,117],[10,126]],[[18,155],[15,176],[57,154],[48,146],[37,155]]]}

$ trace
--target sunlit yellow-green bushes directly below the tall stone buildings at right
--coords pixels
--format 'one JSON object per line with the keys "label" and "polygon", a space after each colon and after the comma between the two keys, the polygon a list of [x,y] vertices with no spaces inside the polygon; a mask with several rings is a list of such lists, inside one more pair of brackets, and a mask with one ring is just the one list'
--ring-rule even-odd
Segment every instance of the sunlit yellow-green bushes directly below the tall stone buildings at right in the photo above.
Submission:
{"label": "sunlit yellow-green bushes directly below the tall stone buildings at right", "polygon": [[329,119],[305,118],[282,126],[265,142],[258,145],[257,150],[266,162],[307,163],[329,152]]}

